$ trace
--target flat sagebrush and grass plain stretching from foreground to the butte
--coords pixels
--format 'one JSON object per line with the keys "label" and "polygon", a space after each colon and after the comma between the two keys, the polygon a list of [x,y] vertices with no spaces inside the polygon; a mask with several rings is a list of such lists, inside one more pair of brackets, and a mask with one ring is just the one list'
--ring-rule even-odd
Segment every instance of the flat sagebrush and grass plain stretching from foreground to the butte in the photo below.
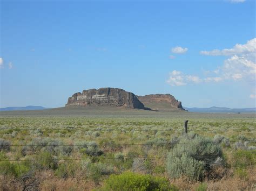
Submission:
{"label": "flat sagebrush and grass plain stretching from foreground to the butte", "polygon": [[[131,171],[165,177],[181,190],[254,190],[255,130],[255,114],[111,107],[4,111],[0,188],[91,190],[100,188],[111,174]],[[173,171],[174,161],[182,157],[178,149],[199,152],[208,144],[219,146],[221,152],[201,153],[200,161],[208,162],[204,171],[196,176],[189,169]]]}

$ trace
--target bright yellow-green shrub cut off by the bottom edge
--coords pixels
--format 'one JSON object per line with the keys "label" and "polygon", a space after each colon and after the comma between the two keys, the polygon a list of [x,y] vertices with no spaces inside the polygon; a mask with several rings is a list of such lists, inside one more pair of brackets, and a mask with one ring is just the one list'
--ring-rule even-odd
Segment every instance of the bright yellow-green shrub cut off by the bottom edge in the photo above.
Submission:
{"label": "bright yellow-green shrub cut off by the bottom edge", "polygon": [[166,179],[150,175],[124,172],[111,175],[98,190],[178,190]]}

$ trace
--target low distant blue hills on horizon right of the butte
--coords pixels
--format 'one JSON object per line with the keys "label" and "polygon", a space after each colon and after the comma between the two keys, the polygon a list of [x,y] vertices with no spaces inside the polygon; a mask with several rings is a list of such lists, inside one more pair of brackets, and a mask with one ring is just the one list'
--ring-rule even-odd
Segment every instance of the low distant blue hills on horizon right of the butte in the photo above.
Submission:
{"label": "low distant blue hills on horizon right of the butte", "polygon": [[248,113],[256,112],[256,108],[220,108],[220,107],[211,107],[211,108],[186,108],[184,109],[191,112],[207,112],[207,113]]}

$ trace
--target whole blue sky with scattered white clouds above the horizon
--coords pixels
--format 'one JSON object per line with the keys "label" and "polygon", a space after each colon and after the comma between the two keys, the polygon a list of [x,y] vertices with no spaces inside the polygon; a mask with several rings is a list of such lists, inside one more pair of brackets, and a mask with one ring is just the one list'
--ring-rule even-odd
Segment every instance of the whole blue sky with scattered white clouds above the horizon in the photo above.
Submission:
{"label": "whole blue sky with scattered white clouds above the horizon", "polygon": [[83,89],[255,107],[255,2],[1,1],[0,107]]}

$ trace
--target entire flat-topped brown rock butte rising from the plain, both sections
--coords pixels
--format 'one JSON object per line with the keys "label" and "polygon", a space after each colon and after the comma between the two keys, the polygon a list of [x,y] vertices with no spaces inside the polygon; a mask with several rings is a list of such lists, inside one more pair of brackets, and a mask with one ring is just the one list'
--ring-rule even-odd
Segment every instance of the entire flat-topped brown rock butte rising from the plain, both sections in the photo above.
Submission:
{"label": "entire flat-topped brown rock butte rising from the plain, both sections", "polygon": [[145,110],[184,110],[181,102],[170,94],[136,96],[119,88],[83,90],[82,93],[79,92],[69,97],[65,106],[86,107],[87,105],[109,105]]}

